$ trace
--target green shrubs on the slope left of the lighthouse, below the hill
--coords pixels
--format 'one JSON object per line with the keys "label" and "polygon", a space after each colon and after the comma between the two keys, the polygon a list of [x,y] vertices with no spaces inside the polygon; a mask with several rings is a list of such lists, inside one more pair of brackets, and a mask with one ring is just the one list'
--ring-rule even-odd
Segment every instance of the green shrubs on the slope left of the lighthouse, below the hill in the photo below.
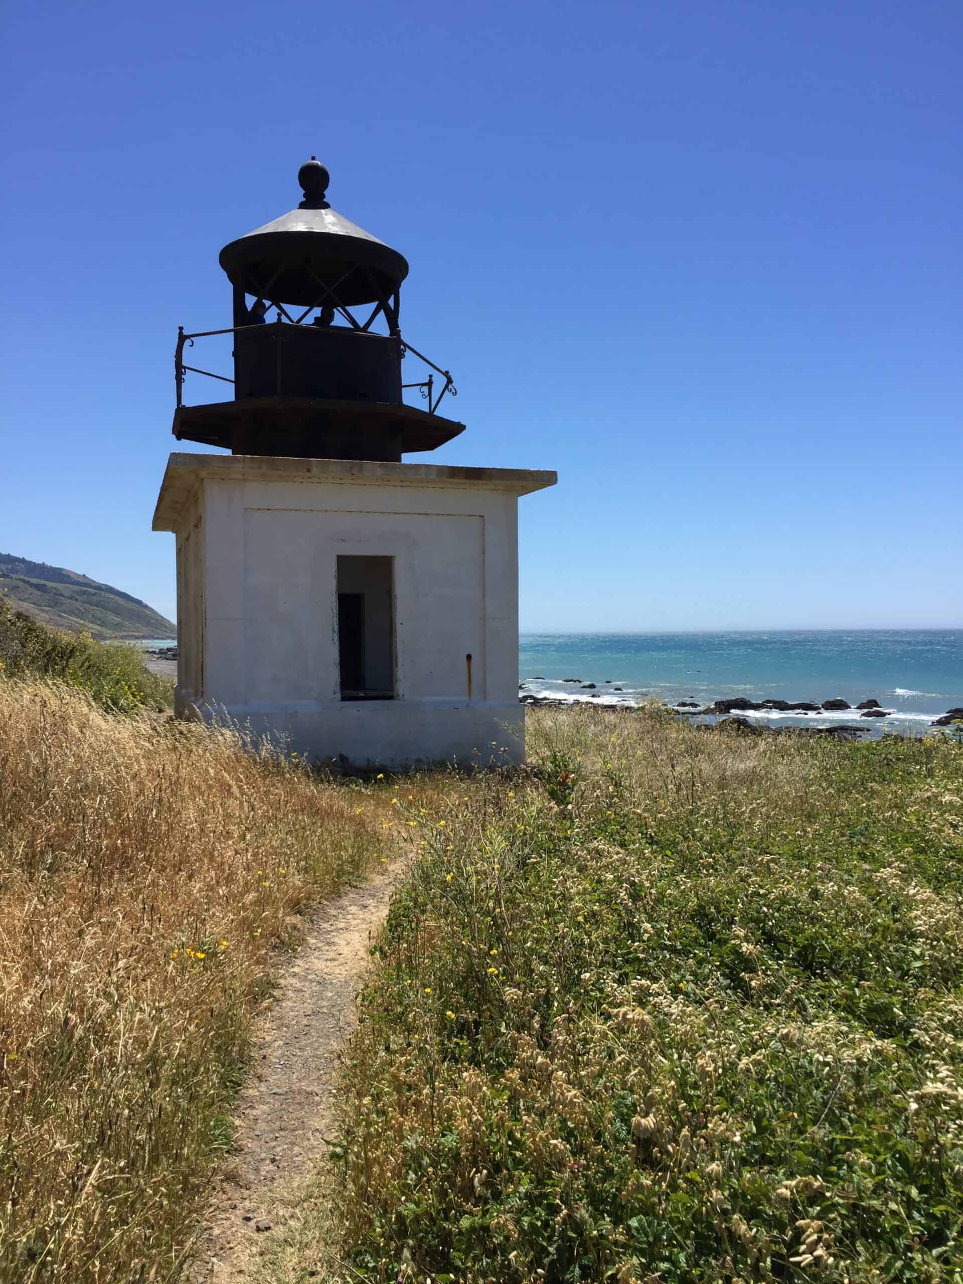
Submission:
{"label": "green shrubs on the slope left of the lighthouse, below the hill", "polygon": [[0,677],[44,678],[86,691],[103,709],[167,709],[173,686],[144,666],[144,652],[89,633],[46,628],[0,594]]}

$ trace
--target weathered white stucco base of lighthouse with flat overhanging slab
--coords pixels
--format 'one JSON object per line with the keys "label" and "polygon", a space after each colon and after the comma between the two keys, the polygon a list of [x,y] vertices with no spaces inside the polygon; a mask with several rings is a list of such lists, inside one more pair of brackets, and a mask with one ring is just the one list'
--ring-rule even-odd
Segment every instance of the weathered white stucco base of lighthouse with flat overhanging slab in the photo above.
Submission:
{"label": "weathered white stucco base of lighthouse with flat overhanging slab", "polygon": [[[226,714],[358,765],[521,760],[517,497],[553,483],[171,456],[154,529],[177,535],[178,713]],[[393,559],[394,700],[340,698],[339,555]]]}

